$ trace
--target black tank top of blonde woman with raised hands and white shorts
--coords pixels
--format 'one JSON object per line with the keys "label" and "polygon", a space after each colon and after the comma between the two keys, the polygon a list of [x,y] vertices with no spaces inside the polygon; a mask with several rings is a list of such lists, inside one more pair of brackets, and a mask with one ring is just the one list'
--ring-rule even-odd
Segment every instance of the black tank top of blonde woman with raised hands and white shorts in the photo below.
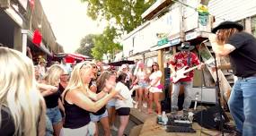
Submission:
{"label": "black tank top of blonde woman with raised hands and white shorts", "polygon": [[[66,91],[66,93],[69,90]],[[63,127],[70,129],[77,129],[87,125],[91,122],[89,112],[79,106],[70,105],[66,102],[66,93],[64,94],[64,107],[65,107],[65,123]]]}

